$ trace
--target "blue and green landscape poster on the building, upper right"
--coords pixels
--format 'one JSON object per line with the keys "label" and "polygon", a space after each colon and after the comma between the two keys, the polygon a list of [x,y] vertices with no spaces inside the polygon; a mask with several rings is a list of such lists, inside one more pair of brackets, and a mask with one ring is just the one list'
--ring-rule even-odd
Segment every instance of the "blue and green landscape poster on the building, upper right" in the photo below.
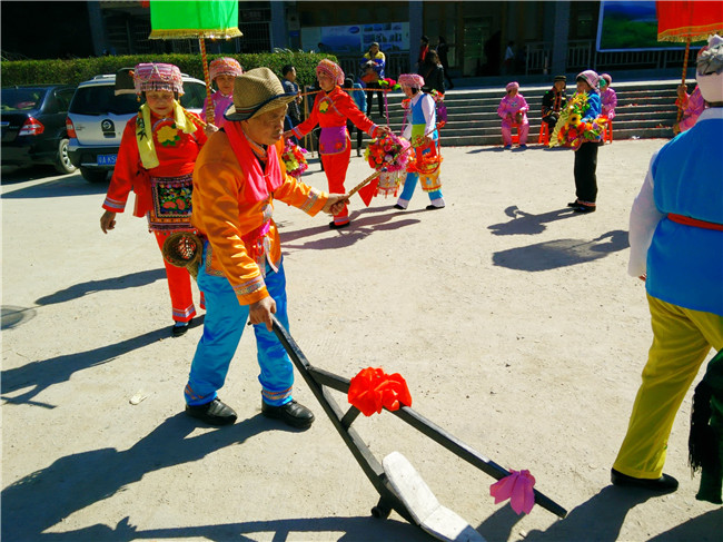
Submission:
{"label": "blue and green landscape poster on the building, upper right", "polygon": [[597,18],[598,51],[650,51],[684,49],[671,41],[657,41],[657,16],[654,1],[600,2]]}

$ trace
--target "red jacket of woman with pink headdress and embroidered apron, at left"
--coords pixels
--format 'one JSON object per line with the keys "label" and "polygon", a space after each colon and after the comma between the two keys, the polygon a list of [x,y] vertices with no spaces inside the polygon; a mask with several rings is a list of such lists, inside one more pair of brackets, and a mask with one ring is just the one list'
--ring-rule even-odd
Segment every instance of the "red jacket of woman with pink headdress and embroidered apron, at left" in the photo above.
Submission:
{"label": "red jacket of woman with pink headdress and embroidered apron, at left", "polygon": [[[133,216],[142,217],[153,205],[150,194],[150,177],[180,177],[190,174],[194,170],[196,157],[206,142],[206,134],[202,128],[198,128],[190,135],[179,130],[180,140],[176,146],[165,146],[158,140],[153,141],[160,164],[152,169],[145,169],[140,162],[138,142],[136,141],[137,118],[130,119],[123,129],[116,168],[102,207],[112,213],[122,213],[126,209],[128,195],[130,190],[133,190],[136,193]],[[155,114],[151,114],[151,119],[159,120]],[[156,137],[156,132],[153,132],[153,137]]]}

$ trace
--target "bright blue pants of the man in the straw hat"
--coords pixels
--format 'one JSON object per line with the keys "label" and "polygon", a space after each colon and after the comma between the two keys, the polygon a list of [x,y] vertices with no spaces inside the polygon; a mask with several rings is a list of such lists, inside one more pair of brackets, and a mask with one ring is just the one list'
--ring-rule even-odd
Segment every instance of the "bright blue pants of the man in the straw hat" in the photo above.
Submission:
{"label": "bright blue pants of the man in the straw hat", "polygon": [[[248,319],[248,305],[239,305],[238,297],[225,276],[209,275],[202,262],[198,269],[198,287],[206,296],[204,336],[196,347],[188,384],[184,391],[186,403],[202,405],[214,401],[217,391],[224,386],[228,366],[236,354],[238,342]],[[286,276],[283,264],[275,273],[267,265],[266,287],[276,302],[276,317],[289,328],[286,313]],[[258,364],[261,373],[261,397],[265,403],[280,406],[291,401],[294,365],[274,332],[266,324],[254,326]]]}

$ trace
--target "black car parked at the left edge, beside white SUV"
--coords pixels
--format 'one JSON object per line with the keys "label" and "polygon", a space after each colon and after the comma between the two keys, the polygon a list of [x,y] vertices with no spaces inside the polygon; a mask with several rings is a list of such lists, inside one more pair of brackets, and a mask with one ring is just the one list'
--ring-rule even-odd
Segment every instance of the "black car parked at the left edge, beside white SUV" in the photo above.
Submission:
{"label": "black car parked at the left edge, beside white SUV", "polygon": [[66,117],[76,87],[36,85],[2,89],[2,165],[49,164],[61,174],[76,167],[68,157]]}

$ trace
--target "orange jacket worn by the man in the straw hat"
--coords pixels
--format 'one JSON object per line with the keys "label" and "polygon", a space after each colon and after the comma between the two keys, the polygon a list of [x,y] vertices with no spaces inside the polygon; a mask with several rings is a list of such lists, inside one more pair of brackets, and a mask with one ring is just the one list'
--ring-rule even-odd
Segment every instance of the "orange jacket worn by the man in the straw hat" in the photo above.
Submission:
{"label": "orange jacket worn by the man in the straw hat", "polygon": [[[194,169],[191,224],[209,242],[206,273],[226,276],[240,305],[250,305],[269,294],[264,282],[264,260],[275,268],[281,260],[281,246],[271,219],[274,199],[298,207],[310,216],[324,208],[326,193],[286,175],[280,159],[284,141],[269,152],[278,152],[284,184],[264,201],[244,197],[246,176],[225,132],[214,134],[198,155]],[[266,223],[268,231],[255,235]],[[263,246],[259,255],[258,247]],[[256,258],[254,257],[256,256]]]}

